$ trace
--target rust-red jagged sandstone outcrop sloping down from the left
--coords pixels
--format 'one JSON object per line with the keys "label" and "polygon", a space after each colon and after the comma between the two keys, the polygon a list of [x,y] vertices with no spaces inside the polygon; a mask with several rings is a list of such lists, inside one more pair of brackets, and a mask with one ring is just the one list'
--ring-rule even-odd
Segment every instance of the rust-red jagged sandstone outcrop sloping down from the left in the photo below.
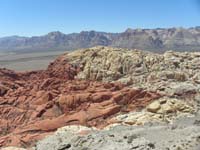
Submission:
{"label": "rust-red jagged sandstone outcrop sloping down from the left", "polygon": [[0,147],[29,147],[57,128],[102,127],[117,113],[145,107],[159,94],[120,83],[74,79],[79,66],[62,59],[45,71],[0,70]]}

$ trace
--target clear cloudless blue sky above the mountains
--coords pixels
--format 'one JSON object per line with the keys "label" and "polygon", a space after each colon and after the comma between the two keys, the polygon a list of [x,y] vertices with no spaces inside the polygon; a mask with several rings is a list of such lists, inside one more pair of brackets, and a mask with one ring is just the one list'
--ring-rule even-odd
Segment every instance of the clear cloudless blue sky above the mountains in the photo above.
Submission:
{"label": "clear cloudless blue sky above the mountains", "polygon": [[200,0],[0,0],[0,37],[200,26]]}

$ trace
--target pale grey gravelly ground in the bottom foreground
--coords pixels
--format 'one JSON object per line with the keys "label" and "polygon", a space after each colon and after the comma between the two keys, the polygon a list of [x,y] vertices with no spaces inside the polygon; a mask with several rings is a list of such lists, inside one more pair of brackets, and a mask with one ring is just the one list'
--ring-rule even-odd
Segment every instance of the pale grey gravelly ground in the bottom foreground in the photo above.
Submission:
{"label": "pale grey gravelly ground in the bottom foreground", "polygon": [[200,115],[180,118],[173,124],[115,126],[109,130],[77,135],[55,133],[37,143],[34,150],[199,150]]}

